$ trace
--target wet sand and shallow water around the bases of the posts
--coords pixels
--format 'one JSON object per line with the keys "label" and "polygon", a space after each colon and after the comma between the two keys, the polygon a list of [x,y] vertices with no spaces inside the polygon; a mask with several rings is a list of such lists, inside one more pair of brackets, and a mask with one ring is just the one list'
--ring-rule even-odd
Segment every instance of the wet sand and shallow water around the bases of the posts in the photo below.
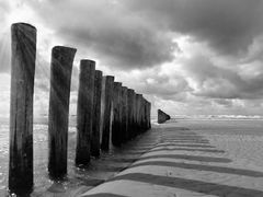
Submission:
{"label": "wet sand and shallow water around the bases of the posts", "polygon": [[[8,126],[3,129],[1,140],[2,151],[0,161],[1,188],[0,196],[7,196],[8,185]],[[68,144],[68,175],[62,182],[49,179],[47,173],[47,125],[34,125],[34,188],[31,194],[23,194],[25,197],[44,196],[77,196],[90,188],[113,177],[118,172],[128,167],[133,162],[156,144],[156,138],[151,132],[146,132],[121,148],[114,148],[108,152],[102,152],[99,159],[92,158],[88,166],[75,166],[76,151],[76,127],[69,127]]]}

